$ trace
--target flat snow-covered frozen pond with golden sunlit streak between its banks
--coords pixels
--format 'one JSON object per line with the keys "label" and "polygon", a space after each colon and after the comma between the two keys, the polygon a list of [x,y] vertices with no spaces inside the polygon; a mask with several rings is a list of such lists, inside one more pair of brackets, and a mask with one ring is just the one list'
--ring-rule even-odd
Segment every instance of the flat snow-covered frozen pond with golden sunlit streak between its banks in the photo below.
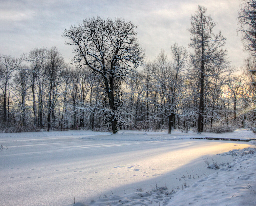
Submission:
{"label": "flat snow-covered frozen pond with golden sunlit streak between its banks", "polygon": [[[72,204],[74,196],[76,202],[88,204],[100,195],[128,194],[137,187],[147,191],[156,183],[171,188],[181,185],[179,178],[187,172],[195,179],[215,172],[206,169],[202,156],[225,162],[230,157],[214,155],[251,146],[232,141],[114,141],[68,133],[32,134],[0,135],[0,144],[8,147],[0,153],[1,205],[62,206]],[[89,135],[94,134],[100,135]]]}

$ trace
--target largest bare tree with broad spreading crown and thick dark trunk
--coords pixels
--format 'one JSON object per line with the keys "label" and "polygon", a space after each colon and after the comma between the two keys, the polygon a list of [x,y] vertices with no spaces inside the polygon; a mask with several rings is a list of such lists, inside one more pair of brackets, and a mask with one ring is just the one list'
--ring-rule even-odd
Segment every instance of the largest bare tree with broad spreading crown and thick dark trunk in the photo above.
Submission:
{"label": "largest bare tree with broad spreading crown and thick dark trunk", "polygon": [[75,45],[73,63],[87,65],[100,75],[109,103],[112,132],[116,133],[115,81],[141,66],[144,56],[137,41],[137,26],[124,19],[93,17],[65,30],[69,45]]}

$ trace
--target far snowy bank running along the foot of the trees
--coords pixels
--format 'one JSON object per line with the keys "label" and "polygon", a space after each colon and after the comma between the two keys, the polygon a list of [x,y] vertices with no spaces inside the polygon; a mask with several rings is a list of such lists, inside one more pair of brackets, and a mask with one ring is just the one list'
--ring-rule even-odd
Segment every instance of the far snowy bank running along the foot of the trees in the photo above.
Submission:
{"label": "far snowy bank running along the foot of the trees", "polygon": [[120,130],[117,134],[111,132],[94,132],[91,130],[69,130],[69,131],[50,131],[50,132],[21,132],[21,133],[0,133],[0,141],[9,138],[82,138],[89,140],[126,140],[126,141],[157,141],[157,140],[175,140],[175,139],[194,139],[194,138],[224,138],[224,139],[256,139],[256,136],[248,129],[236,129],[234,132],[215,134],[202,132],[200,135],[191,130],[188,133],[182,133],[173,130],[168,134],[167,130],[161,131],[132,131]]}

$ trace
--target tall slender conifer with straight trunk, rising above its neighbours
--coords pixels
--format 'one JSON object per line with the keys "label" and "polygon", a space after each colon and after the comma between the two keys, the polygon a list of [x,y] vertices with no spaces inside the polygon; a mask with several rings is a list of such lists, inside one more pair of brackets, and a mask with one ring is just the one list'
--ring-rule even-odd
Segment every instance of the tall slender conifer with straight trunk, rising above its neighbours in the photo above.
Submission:
{"label": "tall slender conifer with straight trunk, rising above its neighbours", "polygon": [[198,133],[203,131],[204,117],[204,94],[207,71],[211,70],[219,64],[220,58],[226,53],[222,50],[226,38],[221,35],[221,32],[216,35],[213,33],[213,28],[216,22],[212,21],[211,16],[206,15],[206,8],[198,6],[195,15],[191,16],[191,34],[190,47],[195,49],[195,54],[191,55],[192,66],[199,74],[199,112],[198,112]]}

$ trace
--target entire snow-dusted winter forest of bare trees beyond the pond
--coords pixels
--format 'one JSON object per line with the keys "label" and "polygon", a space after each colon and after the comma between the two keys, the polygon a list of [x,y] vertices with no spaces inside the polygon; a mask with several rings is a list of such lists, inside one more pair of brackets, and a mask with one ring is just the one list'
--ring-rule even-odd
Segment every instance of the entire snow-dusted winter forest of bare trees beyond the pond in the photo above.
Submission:
{"label": "entire snow-dusted winter forest of bare trees beyond the pond", "polygon": [[[256,126],[256,5],[237,17],[245,50],[231,66],[226,37],[203,6],[188,28],[188,46],[171,45],[148,61],[137,25],[122,18],[84,19],[66,29],[71,64],[57,47],[0,56],[1,132],[50,130],[230,132]],[[189,21],[189,20],[188,20]],[[190,38],[190,40],[189,40]]]}

